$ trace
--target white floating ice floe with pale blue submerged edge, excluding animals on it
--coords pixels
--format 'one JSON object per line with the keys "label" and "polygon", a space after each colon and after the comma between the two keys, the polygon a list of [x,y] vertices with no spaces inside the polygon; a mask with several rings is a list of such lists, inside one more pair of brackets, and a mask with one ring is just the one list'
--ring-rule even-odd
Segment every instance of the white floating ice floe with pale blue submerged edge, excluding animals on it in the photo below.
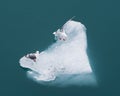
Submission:
{"label": "white floating ice floe with pale blue submerged edge, excluding animals on it", "polygon": [[66,41],[57,40],[36,59],[24,56],[20,66],[30,69],[27,74],[35,81],[49,85],[94,85],[92,69],[86,53],[86,28],[80,22],[70,20],[63,26]]}

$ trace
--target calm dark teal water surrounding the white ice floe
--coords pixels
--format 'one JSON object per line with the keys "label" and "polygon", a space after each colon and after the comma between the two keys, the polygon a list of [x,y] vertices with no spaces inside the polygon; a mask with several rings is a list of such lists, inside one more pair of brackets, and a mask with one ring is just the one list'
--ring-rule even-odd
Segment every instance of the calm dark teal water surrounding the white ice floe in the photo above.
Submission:
{"label": "calm dark teal water surrounding the white ice floe", "polygon": [[[9,0],[1,3],[0,96],[118,96],[119,0]],[[99,86],[55,88],[26,77],[19,59],[54,42],[66,20],[87,27],[88,53]]]}

